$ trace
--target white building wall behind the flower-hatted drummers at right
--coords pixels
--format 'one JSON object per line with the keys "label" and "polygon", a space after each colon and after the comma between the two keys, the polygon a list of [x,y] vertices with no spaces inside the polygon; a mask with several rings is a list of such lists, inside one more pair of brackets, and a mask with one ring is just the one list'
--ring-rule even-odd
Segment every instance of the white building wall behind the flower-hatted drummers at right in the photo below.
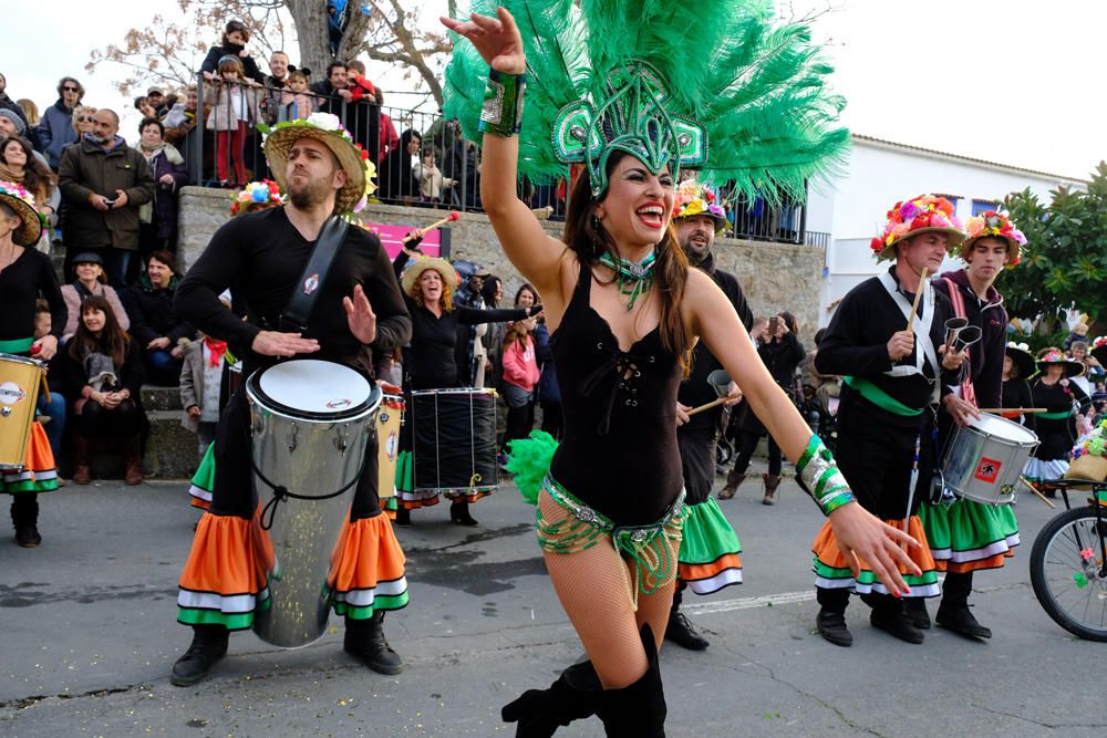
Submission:
{"label": "white building wall behind the flower-hatted drummers at right", "polygon": [[[958,218],[972,216],[973,200],[999,202],[1027,187],[1045,202],[1058,185],[1083,187],[1075,178],[1054,177],[999,164],[975,162],[884,142],[853,137],[848,170],[830,181],[814,183],[808,195],[807,230],[830,233],[820,299],[826,325],[846,292],[879,273],[869,242],[880,235],[888,208],[897,200],[927,193],[958,197]],[[946,267],[953,268],[948,260]]]}

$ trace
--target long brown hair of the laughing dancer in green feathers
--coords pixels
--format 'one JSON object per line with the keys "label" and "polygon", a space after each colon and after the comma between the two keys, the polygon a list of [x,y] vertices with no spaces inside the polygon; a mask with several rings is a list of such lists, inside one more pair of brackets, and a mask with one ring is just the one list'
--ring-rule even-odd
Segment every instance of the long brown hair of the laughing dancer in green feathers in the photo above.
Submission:
{"label": "long brown hair of the laughing dancer in green feathers", "polygon": [[[622,157],[629,156],[623,152],[614,152],[608,158],[608,176],[614,170],[615,165]],[[598,259],[603,251],[618,258],[614,240],[603,228],[592,227],[592,214],[594,206],[600,200],[592,197],[592,186],[589,180],[588,169],[584,168],[569,195],[569,206],[565,219],[565,231],[561,240],[582,264],[590,264]],[[653,289],[656,290],[661,300],[661,345],[666,351],[676,355],[681,370],[687,376],[692,368],[692,332],[685,324],[681,315],[681,302],[684,300],[684,290],[689,281],[689,260],[684,256],[684,249],[676,240],[672,221],[665,229],[665,236],[658,243],[658,261],[653,268]],[[591,273],[589,271],[589,273]]]}

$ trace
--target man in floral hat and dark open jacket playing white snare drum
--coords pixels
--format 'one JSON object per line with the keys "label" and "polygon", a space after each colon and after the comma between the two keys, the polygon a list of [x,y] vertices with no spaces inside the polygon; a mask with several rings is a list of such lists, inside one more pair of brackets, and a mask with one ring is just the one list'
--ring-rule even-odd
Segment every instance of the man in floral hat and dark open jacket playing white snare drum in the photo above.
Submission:
{"label": "man in floral hat and dark open jacket playing white snare drum", "polygon": [[[991,210],[970,218],[965,230],[969,237],[959,253],[968,266],[941,274],[933,283],[935,290],[950,298],[955,315],[981,330],[981,340],[968,349],[962,382],[954,392],[977,407],[1001,407],[1007,311],[993,284],[1004,267],[1018,263],[1020,247],[1026,237],[1006,216]],[[948,451],[955,428],[953,417],[941,413],[939,427],[941,445]],[[923,505],[919,517],[938,569],[946,572],[938,624],[970,638],[992,637],[992,631],[981,625],[969,609],[972,574],[1002,567],[1006,557],[1013,555],[1011,549],[1018,545],[1014,508],[968,499],[943,500]],[[911,601],[908,613],[917,627],[930,627],[930,615],[921,600]]]}

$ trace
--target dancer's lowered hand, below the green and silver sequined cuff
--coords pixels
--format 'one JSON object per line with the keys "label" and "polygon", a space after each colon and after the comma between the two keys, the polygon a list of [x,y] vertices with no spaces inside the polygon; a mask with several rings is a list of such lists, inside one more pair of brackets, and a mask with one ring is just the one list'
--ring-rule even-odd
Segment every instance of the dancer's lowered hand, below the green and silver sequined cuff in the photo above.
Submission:
{"label": "dancer's lowered hand, below the green and silver sequined cuff", "polygon": [[849,562],[855,578],[861,573],[858,559],[863,559],[893,595],[910,592],[900,574],[900,565],[915,575],[921,574],[922,570],[911,561],[901,544],[906,543],[912,549],[922,548],[917,540],[879,520],[858,502],[849,502],[831,512],[830,527],[834,528],[838,549]]}

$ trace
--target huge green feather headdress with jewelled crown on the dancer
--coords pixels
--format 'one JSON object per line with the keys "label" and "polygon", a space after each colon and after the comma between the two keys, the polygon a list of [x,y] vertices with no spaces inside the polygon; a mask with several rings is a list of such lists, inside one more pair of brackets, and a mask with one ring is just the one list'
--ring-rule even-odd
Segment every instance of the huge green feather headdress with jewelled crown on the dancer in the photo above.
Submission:
{"label": "huge green feather headdress with jewelled crown on the dancer", "polygon": [[[776,24],[767,0],[474,0],[515,17],[527,54],[519,171],[535,181],[584,163],[607,188],[613,150],[653,171],[702,169],[733,196],[804,199],[849,144],[845,101],[803,24]],[[455,39],[456,40],[456,39]],[[479,141],[488,65],[456,43],[445,113]]]}

